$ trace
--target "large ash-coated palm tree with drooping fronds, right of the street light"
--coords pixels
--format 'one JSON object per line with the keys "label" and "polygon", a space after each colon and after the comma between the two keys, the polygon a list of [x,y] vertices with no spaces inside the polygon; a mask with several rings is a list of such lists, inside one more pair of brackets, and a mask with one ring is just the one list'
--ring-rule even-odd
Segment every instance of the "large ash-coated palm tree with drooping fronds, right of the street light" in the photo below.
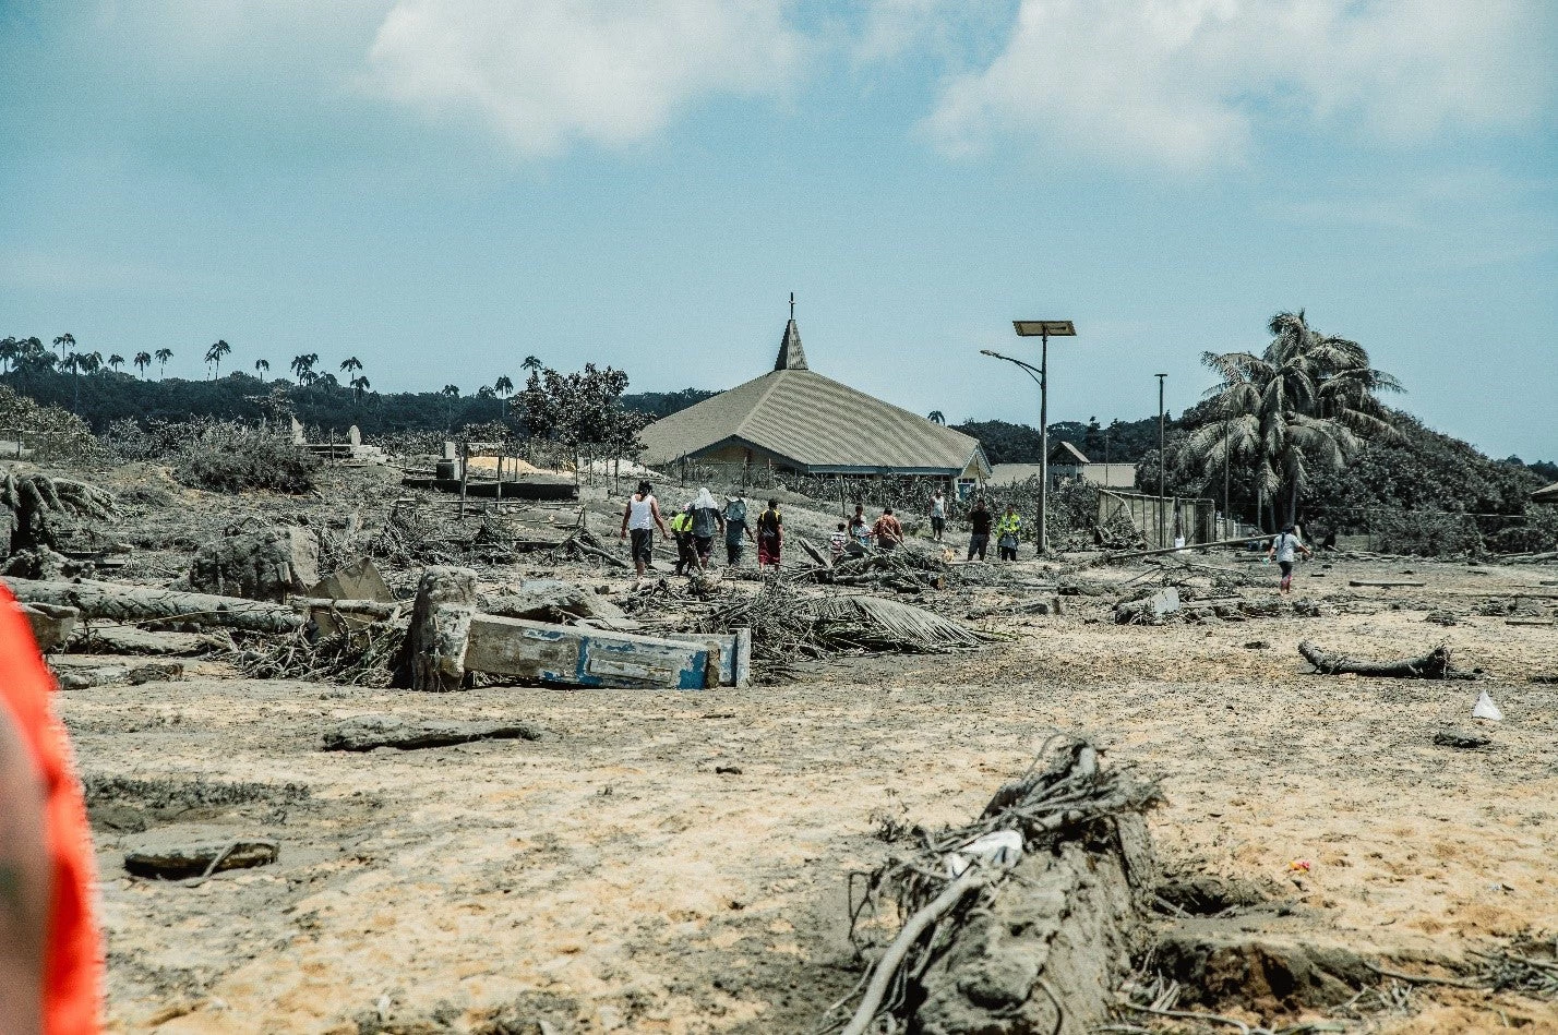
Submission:
{"label": "large ash-coated palm tree with drooping fronds, right of the street light", "polygon": [[1315,472],[1340,470],[1365,439],[1399,437],[1377,392],[1402,388],[1369,366],[1363,346],[1313,330],[1302,310],[1278,313],[1267,330],[1271,344],[1259,356],[1201,356],[1221,377],[1206,394],[1217,419],[1190,436],[1189,450],[1206,473],[1248,461],[1256,486],[1273,500],[1285,493],[1287,521],[1296,521]]}

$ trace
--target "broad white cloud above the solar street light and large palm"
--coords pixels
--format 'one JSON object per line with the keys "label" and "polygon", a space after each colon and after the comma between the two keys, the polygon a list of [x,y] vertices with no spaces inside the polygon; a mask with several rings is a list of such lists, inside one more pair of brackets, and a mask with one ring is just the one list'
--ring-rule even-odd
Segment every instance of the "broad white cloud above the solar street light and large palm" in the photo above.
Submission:
{"label": "broad white cloud above the solar street light and large palm", "polygon": [[950,153],[1017,132],[1187,168],[1268,128],[1424,140],[1541,115],[1553,36],[1546,0],[1024,0],[925,126]]}

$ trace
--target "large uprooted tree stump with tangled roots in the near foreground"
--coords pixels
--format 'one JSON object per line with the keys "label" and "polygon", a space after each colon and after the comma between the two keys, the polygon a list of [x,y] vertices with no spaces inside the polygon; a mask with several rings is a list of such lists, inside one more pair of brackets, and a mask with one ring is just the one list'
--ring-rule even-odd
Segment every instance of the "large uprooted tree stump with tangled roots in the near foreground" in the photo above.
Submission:
{"label": "large uprooted tree stump with tangled roots in the near foreground", "polygon": [[[974,823],[872,873],[854,918],[894,898],[904,926],[851,1021],[826,1030],[863,1035],[883,1015],[924,1035],[1103,1023],[1156,881],[1142,819],[1156,802],[1153,784],[1072,741],[1042,772],[1005,784]],[[1000,839],[1006,848],[991,851]]]}

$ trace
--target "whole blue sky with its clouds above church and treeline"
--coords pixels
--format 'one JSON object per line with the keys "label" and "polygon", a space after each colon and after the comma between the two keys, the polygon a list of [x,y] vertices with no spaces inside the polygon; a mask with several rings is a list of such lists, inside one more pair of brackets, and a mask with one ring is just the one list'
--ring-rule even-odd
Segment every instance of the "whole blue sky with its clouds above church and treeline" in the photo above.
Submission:
{"label": "whole blue sky with its clouds above church and treeline", "polygon": [[1304,308],[1558,458],[1550,0],[0,0],[0,335],[1173,412]]}

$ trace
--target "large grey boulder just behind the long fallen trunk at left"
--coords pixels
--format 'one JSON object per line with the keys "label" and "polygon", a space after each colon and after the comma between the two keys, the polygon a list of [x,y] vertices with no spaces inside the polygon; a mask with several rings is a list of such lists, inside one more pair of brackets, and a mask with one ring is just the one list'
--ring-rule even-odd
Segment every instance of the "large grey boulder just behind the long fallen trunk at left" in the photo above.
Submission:
{"label": "large grey boulder just behind the long fallen trunk at left", "polygon": [[319,539],[302,526],[234,526],[206,543],[190,565],[189,584],[198,593],[241,596],[280,604],[288,593],[305,593],[319,581]]}

